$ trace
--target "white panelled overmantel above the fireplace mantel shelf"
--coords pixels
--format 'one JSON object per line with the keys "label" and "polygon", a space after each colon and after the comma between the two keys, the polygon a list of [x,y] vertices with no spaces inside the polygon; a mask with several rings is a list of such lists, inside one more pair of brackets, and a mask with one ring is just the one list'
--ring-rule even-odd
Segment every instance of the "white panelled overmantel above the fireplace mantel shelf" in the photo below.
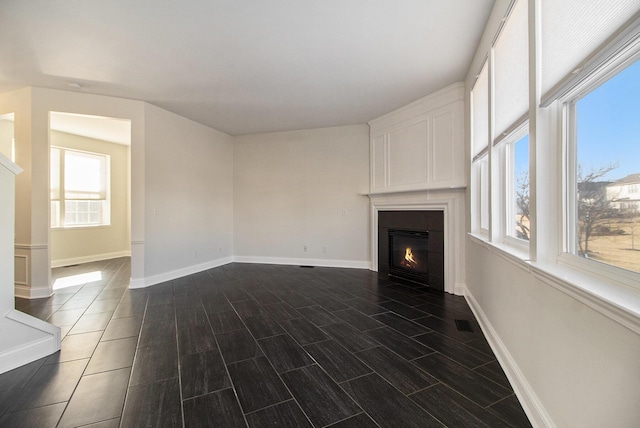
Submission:
{"label": "white panelled overmantel above the fireplace mantel shelf", "polygon": [[369,122],[371,193],[464,188],[464,85]]}

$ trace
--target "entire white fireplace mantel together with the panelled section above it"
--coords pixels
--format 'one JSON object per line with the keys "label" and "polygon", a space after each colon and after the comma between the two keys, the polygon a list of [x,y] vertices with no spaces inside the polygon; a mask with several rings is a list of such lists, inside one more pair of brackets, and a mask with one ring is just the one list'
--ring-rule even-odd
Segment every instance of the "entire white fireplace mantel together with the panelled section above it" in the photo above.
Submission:
{"label": "entire white fireplace mantel together with the panelled section above it", "polygon": [[464,84],[369,122],[371,261],[378,271],[380,211],[444,213],[444,290],[465,289]]}

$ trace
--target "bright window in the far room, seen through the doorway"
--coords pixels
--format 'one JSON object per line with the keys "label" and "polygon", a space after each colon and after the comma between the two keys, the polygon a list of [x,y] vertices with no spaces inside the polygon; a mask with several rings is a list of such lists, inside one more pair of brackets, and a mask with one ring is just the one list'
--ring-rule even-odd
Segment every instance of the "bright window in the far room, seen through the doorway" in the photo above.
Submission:
{"label": "bright window in the far room, seen through the doorway", "polygon": [[51,227],[110,224],[108,155],[51,147]]}

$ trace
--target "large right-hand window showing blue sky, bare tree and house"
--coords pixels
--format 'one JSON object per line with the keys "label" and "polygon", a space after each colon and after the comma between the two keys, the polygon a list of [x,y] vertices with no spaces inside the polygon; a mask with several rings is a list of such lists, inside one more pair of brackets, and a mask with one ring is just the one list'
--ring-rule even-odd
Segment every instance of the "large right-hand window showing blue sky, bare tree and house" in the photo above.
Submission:
{"label": "large right-hand window showing blue sky, bare tree and house", "polygon": [[640,272],[640,61],[619,68],[565,104],[566,248]]}

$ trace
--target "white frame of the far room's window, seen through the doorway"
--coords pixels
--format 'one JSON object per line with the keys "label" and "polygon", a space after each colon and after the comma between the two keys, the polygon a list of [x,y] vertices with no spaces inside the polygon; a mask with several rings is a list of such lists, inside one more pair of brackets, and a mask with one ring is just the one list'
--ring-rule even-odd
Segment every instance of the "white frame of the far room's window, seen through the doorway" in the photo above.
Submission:
{"label": "white frame of the far room's window, seen through the doorway", "polygon": [[[98,153],[98,152],[90,152],[90,151],[86,151],[86,150],[78,150],[78,149],[74,149],[74,148],[68,148],[68,147],[63,147],[63,146],[56,146],[56,145],[51,145],[49,148],[49,156],[50,156],[50,168],[51,168],[51,151],[52,149],[56,149],[59,150],[60,152],[60,156],[59,156],[59,168],[58,173],[59,173],[59,178],[58,178],[58,184],[59,184],[59,189],[58,189],[58,193],[59,193],[59,197],[58,198],[54,198],[52,195],[52,191],[51,191],[51,178],[50,178],[50,183],[49,183],[49,189],[50,189],[50,194],[49,194],[49,209],[50,209],[50,215],[49,215],[49,221],[50,221],[50,227],[51,229],[55,229],[55,230],[64,230],[64,229],[87,229],[87,228],[102,228],[102,227],[110,227],[111,226],[111,156],[105,153]],[[105,197],[104,198],[95,198],[95,199],[67,199],[65,198],[65,153],[66,152],[75,152],[75,153],[82,153],[82,154],[87,154],[87,155],[91,155],[91,156],[95,156],[95,157],[100,157],[103,158],[104,161],[104,172],[105,172],[105,176],[104,176],[104,184],[105,184]],[[101,221],[99,223],[80,223],[80,224],[67,224],[66,223],[66,202],[67,201],[76,201],[76,202],[83,202],[83,201],[87,201],[89,203],[91,202],[96,202],[99,201],[101,203]],[[54,202],[58,202],[57,205],[57,209],[54,210],[53,208],[53,203]],[[53,216],[54,214],[57,217],[57,221],[54,224],[53,223]]]}

